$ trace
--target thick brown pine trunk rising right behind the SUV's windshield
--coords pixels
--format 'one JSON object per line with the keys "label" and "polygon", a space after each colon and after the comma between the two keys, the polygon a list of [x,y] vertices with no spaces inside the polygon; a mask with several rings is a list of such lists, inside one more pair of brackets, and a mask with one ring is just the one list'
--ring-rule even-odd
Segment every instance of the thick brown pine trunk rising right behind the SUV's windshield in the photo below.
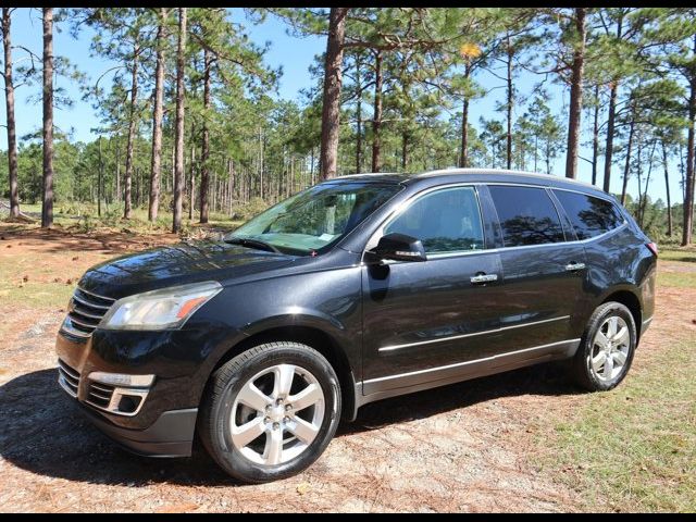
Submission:
{"label": "thick brown pine trunk rising right behind the SUV's windshield", "polygon": [[324,63],[322,139],[320,172],[322,179],[336,177],[338,171],[338,136],[340,130],[340,90],[343,86],[346,14],[350,8],[331,8]]}

